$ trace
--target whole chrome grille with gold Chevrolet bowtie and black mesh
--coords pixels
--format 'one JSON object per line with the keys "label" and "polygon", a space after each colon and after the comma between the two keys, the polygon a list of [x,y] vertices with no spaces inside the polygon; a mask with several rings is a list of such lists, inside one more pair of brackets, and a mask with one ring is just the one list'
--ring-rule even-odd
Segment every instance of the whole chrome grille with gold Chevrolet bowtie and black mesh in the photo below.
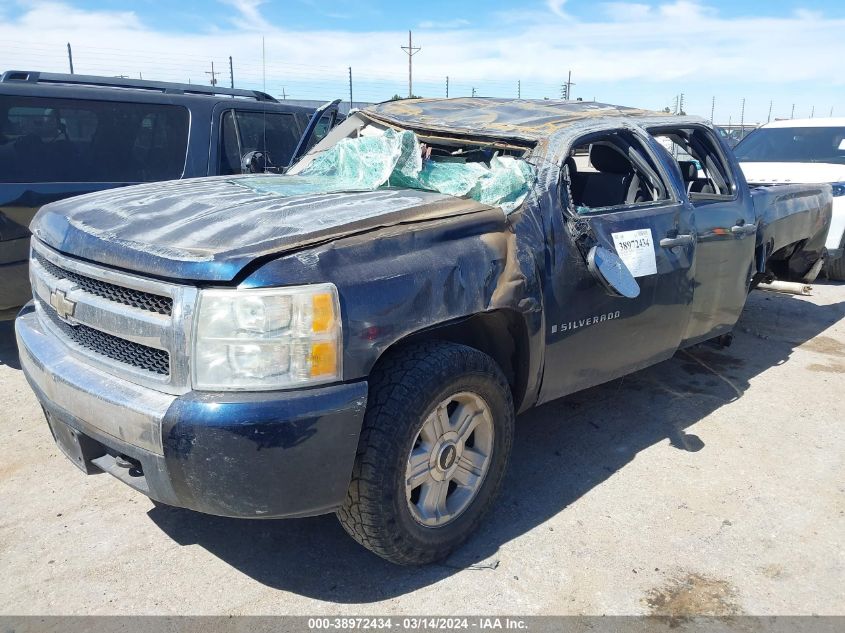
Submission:
{"label": "whole chrome grille with gold Chevrolet bowtie and black mesh", "polygon": [[190,390],[197,288],[89,264],[37,238],[29,263],[39,318],[70,354],[138,385]]}

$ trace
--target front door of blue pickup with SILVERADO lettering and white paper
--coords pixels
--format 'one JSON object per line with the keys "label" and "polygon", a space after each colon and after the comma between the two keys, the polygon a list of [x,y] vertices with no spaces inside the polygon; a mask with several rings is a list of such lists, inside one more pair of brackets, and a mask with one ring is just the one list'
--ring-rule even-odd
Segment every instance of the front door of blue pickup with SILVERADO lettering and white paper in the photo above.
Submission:
{"label": "front door of blue pickup with SILVERADO lettering and white paper", "polygon": [[[594,148],[602,145],[618,155],[608,160],[605,149],[599,163]],[[669,358],[693,297],[692,209],[679,195],[680,176],[669,169],[665,151],[641,131],[620,129],[582,137],[573,152],[562,174],[563,209],[552,211],[568,218],[568,234],[559,238],[567,255],[556,258],[545,290],[540,401]],[[587,269],[591,245],[623,259],[639,283],[638,297],[608,294]]]}

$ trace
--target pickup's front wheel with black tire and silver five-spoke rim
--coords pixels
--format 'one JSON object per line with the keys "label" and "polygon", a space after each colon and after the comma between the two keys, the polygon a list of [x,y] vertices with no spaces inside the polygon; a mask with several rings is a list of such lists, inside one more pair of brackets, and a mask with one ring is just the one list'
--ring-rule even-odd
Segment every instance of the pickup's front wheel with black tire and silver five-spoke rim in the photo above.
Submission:
{"label": "pickup's front wheel with black tire and silver five-spoke rim", "polygon": [[389,352],[370,377],[341,525],[392,563],[446,558],[493,505],[513,428],[510,387],[486,354],[439,341]]}

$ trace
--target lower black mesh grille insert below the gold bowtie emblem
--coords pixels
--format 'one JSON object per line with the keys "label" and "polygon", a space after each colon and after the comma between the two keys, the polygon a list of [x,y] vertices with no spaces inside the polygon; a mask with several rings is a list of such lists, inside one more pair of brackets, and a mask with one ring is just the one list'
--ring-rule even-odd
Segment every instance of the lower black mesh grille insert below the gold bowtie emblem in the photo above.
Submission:
{"label": "lower black mesh grille insert below the gold bowtie emblem", "polygon": [[80,347],[154,374],[167,376],[170,373],[170,354],[167,351],[133,343],[87,325],[70,325],[62,321],[55,310],[51,310],[41,299],[38,299],[38,303],[50,322]]}

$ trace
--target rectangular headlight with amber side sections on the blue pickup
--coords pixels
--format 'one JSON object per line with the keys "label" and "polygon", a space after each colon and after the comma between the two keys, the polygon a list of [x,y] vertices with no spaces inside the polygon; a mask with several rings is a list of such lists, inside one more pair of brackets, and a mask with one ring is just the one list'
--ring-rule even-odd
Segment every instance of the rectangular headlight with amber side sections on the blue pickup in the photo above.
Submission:
{"label": "rectangular headlight with amber side sections on the blue pickup", "polygon": [[333,284],[201,290],[194,388],[266,390],[339,380],[342,344]]}

